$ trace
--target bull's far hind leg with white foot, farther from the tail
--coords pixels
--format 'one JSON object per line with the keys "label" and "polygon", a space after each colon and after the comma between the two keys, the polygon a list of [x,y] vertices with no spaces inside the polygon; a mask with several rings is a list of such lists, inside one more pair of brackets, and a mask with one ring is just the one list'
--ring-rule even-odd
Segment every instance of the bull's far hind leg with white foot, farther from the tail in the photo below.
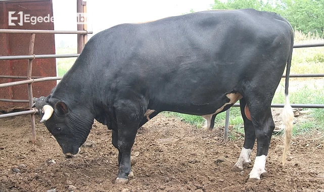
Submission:
{"label": "bull's far hind leg with white foot, farther from the tail", "polygon": [[243,171],[244,167],[248,167],[251,164],[250,155],[255,142],[255,130],[247,116],[245,115],[246,100],[242,98],[240,100],[241,114],[244,121],[244,144],[240,154],[238,162],[232,167],[232,171]]}

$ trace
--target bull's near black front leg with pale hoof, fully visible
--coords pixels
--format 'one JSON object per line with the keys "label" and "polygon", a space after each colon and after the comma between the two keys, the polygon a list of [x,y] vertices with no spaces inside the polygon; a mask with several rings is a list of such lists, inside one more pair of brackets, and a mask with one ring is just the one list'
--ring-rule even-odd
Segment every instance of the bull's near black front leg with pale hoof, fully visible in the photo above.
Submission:
{"label": "bull's near black front leg with pale hoof, fully visible", "polygon": [[118,136],[117,149],[119,151],[119,169],[115,184],[125,184],[128,182],[128,174],[131,173],[130,152],[134,144],[136,132],[140,120],[134,119],[132,114],[118,113]]}

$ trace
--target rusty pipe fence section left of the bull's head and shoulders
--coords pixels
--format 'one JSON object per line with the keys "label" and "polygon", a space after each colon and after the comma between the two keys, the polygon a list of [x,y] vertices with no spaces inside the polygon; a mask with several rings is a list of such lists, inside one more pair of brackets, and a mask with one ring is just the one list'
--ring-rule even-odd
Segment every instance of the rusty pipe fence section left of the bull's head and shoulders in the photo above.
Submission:
{"label": "rusty pipe fence section left of the bull's head and shoulders", "polygon": [[12,79],[26,79],[21,81],[2,83],[0,84],[0,88],[9,87],[21,84],[28,84],[28,100],[8,100],[8,99],[0,99],[1,102],[12,102],[12,103],[29,103],[29,111],[15,112],[0,115],[1,118],[6,117],[14,117],[19,115],[28,115],[30,114],[31,118],[31,132],[32,132],[32,142],[36,142],[36,131],[35,131],[35,116],[34,114],[38,111],[36,109],[32,109],[32,105],[34,103],[33,93],[32,93],[32,83],[40,82],[40,81],[50,81],[50,80],[60,80],[62,77],[33,77],[31,76],[32,72],[32,64],[34,59],[48,59],[48,58],[69,58],[69,57],[78,57],[80,54],[64,54],[64,55],[34,55],[34,42],[35,42],[35,34],[78,34],[82,35],[80,38],[78,36],[78,53],[81,52],[81,48],[83,48],[87,34],[91,34],[92,31],[79,30],[79,31],[61,31],[61,30],[19,30],[19,29],[0,29],[0,33],[29,33],[30,41],[29,41],[29,54],[27,56],[0,56],[0,61],[3,60],[28,60],[28,68],[27,68],[27,76],[11,76],[11,75],[0,75],[0,78],[12,78]]}

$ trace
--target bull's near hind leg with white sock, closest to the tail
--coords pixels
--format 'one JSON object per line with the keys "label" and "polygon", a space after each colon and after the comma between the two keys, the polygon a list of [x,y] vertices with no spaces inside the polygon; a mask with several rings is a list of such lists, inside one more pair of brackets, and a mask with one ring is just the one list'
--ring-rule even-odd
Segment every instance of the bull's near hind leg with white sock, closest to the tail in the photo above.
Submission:
{"label": "bull's near hind leg with white sock, closest to the tail", "polygon": [[[250,106],[252,123],[255,128],[257,140],[257,153],[253,168],[250,172],[249,181],[260,179],[260,175],[265,173],[265,161],[268,155],[270,140],[274,129],[274,122],[271,115],[270,102],[264,102],[264,105]],[[268,103],[268,104],[266,104]]]}

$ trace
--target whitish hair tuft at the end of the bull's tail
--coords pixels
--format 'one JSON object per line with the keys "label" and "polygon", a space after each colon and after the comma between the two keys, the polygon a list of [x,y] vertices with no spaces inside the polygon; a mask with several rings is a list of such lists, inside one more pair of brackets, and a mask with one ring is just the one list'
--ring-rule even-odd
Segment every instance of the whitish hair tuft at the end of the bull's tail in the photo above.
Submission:
{"label": "whitish hair tuft at the end of the bull's tail", "polygon": [[288,94],[285,95],[285,107],[283,110],[283,122],[285,125],[285,140],[284,140],[284,151],[283,151],[283,165],[286,163],[287,153],[290,148],[292,131],[293,131],[293,119],[294,112],[293,108],[290,106]]}

